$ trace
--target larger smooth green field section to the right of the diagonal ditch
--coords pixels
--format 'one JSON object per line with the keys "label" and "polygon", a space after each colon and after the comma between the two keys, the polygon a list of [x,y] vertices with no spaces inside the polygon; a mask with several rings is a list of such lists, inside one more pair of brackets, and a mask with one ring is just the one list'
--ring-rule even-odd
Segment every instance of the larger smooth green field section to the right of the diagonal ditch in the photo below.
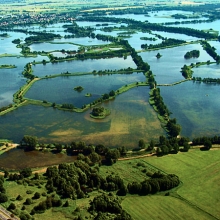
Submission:
{"label": "larger smooth green field section to the right of the diagonal ditch", "polygon": [[219,185],[216,183],[219,181],[219,153],[219,150],[204,152],[193,149],[186,154],[151,157],[148,162],[180,177],[183,185],[177,189],[177,195],[174,194],[176,198],[186,203],[190,209],[196,208],[196,212],[206,216],[204,219],[213,219],[213,216],[218,219],[220,216],[216,206],[219,205],[219,200],[216,192],[219,191]]}

